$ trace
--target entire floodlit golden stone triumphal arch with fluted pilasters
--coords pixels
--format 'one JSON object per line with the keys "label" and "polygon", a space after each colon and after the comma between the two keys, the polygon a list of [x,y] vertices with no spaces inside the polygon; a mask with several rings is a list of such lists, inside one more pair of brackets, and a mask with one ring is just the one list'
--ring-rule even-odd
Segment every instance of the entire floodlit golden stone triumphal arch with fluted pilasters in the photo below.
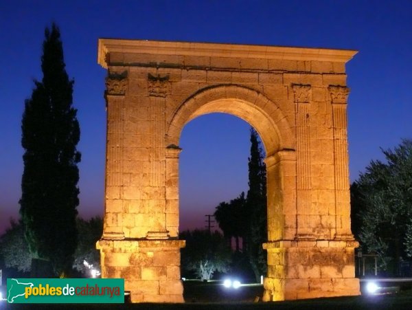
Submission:
{"label": "entire floodlit golden stone triumphal arch with fluted pilasters", "polygon": [[102,276],[133,302],[182,302],[179,136],[246,120],[266,148],[264,300],[359,294],[350,229],[345,63],[356,52],[100,39],[107,146]]}

